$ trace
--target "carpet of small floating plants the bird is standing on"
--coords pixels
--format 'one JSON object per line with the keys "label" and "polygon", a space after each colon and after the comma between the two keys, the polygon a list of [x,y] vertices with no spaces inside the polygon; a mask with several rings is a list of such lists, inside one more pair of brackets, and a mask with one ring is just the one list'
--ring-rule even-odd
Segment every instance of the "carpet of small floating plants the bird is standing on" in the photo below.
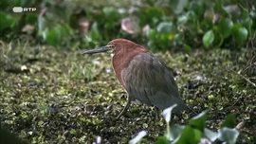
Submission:
{"label": "carpet of small floating plants the bird is standing on", "polygon": [[[109,54],[82,56],[48,45],[1,45],[1,125],[29,143],[127,143],[140,131],[148,143],[165,134],[166,123],[155,108],[133,104],[116,120],[126,94],[115,78]],[[206,125],[236,114],[245,122],[239,143],[255,141],[256,89],[243,74],[246,50],[213,49],[191,53],[156,53],[174,72],[182,98],[198,113],[209,109]],[[139,68],[139,67],[138,67]],[[123,95],[124,94],[124,95]],[[174,116],[188,124],[193,114]]]}

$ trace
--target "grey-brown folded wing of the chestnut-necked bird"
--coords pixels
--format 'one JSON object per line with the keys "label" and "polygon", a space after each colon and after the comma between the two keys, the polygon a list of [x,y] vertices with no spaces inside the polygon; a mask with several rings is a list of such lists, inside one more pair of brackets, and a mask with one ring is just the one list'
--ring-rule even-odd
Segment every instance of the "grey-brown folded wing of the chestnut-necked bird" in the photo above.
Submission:
{"label": "grey-brown folded wing of the chestnut-necked bird", "polygon": [[179,113],[188,110],[180,98],[173,74],[166,64],[151,53],[139,53],[121,72],[124,88],[128,95],[141,103],[165,109],[178,104],[174,109]]}

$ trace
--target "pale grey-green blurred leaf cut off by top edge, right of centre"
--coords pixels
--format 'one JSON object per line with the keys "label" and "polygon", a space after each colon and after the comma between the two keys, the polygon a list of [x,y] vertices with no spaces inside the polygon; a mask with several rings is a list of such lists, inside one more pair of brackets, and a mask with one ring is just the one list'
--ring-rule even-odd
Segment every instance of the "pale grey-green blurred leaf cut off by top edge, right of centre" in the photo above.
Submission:
{"label": "pale grey-green blurred leaf cut off by top edge, right of centre", "polygon": [[176,14],[181,13],[188,4],[188,0],[170,0],[171,9],[173,9]]}

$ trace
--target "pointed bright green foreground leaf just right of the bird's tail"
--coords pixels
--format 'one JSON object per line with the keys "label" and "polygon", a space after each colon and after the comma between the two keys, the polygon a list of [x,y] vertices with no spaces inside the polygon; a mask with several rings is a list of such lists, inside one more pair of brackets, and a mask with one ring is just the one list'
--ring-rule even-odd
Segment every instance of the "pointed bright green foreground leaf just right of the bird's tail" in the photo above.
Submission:
{"label": "pointed bright green foreground leaf just right of the bird's tail", "polygon": [[204,132],[207,117],[208,111],[204,111],[196,117],[192,117],[192,120],[190,121],[189,125],[192,126],[192,128],[198,129],[200,132]]}

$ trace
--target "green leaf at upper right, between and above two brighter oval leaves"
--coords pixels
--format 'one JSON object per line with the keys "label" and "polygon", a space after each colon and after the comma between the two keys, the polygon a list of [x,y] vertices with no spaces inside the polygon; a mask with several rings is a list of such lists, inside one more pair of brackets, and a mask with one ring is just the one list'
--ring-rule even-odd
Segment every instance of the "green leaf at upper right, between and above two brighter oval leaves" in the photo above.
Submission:
{"label": "green leaf at upper right, between and above two brighter oval leaves", "polygon": [[220,20],[218,25],[218,31],[222,34],[224,38],[229,37],[231,29],[233,27],[233,22],[229,18],[223,18]]}

